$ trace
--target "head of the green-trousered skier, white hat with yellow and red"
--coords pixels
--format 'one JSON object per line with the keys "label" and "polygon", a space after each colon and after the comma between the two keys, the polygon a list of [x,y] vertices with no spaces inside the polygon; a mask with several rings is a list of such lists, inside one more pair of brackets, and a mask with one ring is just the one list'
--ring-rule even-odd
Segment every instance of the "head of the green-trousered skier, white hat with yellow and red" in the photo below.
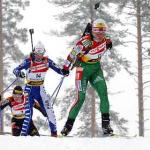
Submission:
{"label": "head of the green-trousered skier, white hat with yellow and red", "polygon": [[92,24],[92,34],[95,39],[101,40],[104,38],[107,30],[107,25],[103,19],[97,19]]}

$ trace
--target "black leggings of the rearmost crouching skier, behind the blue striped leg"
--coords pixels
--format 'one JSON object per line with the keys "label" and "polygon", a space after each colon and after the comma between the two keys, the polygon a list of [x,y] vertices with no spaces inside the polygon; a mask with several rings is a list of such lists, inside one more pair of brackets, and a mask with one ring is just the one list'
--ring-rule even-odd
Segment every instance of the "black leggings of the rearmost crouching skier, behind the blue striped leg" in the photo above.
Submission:
{"label": "black leggings of the rearmost crouching skier, behind the blue striped leg", "polygon": [[[23,121],[24,121],[24,119],[17,119],[14,117],[12,118],[11,128],[12,128],[13,136],[20,136]],[[39,136],[40,135],[32,120],[30,122],[28,135],[30,135],[30,136]]]}

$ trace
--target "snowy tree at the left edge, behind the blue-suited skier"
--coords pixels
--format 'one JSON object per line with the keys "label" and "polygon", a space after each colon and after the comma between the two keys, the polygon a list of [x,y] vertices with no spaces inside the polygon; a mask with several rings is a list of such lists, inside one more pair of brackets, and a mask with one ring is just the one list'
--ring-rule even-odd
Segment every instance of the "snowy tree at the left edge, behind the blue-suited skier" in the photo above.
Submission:
{"label": "snowy tree at the left edge, behind the blue-suited skier", "polygon": [[[23,16],[21,11],[29,6],[28,0],[3,0],[1,7],[0,90],[12,81],[11,66],[23,58],[20,42],[27,42],[27,30],[18,26]],[[4,85],[4,86],[3,86]],[[2,118],[2,115],[0,116]],[[2,124],[2,120],[1,120]],[[1,126],[1,131],[3,127]]]}

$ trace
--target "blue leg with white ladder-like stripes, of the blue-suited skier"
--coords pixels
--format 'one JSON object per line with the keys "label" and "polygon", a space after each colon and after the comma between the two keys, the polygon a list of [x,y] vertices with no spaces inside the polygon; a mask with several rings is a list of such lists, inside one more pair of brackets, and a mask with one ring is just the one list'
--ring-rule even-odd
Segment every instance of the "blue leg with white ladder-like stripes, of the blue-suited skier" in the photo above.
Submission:
{"label": "blue leg with white ladder-like stripes, of the blue-suited skier", "polygon": [[33,114],[34,98],[32,96],[31,90],[32,90],[32,87],[29,87],[29,86],[25,87],[25,93],[28,94],[28,98],[26,99],[26,104],[25,104],[25,118],[24,118],[24,122],[22,125],[22,130],[21,130],[22,136],[28,135],[30,121],[32,119],[32,114]]}

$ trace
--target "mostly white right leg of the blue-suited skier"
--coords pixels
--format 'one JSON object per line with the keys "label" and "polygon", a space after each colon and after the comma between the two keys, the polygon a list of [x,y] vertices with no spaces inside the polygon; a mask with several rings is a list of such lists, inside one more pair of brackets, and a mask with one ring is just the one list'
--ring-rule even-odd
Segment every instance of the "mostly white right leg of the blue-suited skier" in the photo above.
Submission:
{"label": "mostly white right leg of the blue-suited skier", "polygon": [[40,106],[42,108],[44,107],[46,110],[51,136],[57,136],[56,118],[55,118],[52,102],[50,96],[46,94],[44,86],[40,87],[40,95],[41,95],[41,100],[38,101],[40,103]]}

